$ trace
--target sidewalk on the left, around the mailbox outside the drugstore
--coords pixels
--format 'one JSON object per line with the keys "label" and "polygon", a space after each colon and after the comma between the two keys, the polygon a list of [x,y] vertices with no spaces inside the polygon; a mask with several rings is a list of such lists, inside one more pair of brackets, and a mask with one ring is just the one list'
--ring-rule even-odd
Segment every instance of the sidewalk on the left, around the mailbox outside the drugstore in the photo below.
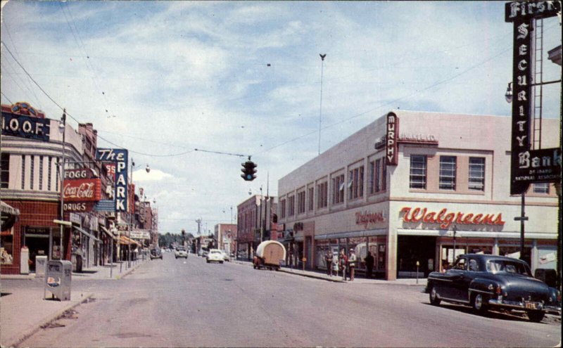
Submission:
{"label": "sidewalk on the left, around the mailbox outside the drugstore", "polygon": [[[129,268],[127,262],[114,264],[111,271],[108,265],[84,269],[82,273],[72,272],[71,282],[118,280],[143,263],[143,260],[132,262]],[[0,347],[15,346],[93,295],[91,292],[72,290],[71,283],[70,301],[58,301],[51,299],[51,292],[44,292],[44,278],[35,278],[35,273],[2,275],[0,279]]]}

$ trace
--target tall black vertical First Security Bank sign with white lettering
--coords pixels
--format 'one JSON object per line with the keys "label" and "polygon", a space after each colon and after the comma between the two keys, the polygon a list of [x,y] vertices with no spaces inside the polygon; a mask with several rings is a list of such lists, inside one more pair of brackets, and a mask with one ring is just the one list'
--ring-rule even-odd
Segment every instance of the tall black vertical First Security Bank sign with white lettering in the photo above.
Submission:
{"label": "tall black vertical First Security Bank sign with white lettering", "polygon": [[561,11],[560,1],[512,1],[505,4],[505,22],[514,23],[512,62],[512,147],[510,194],[526,192],[530,183],[561,180],[561,149],[531,149],[533,101],[533,20]]}

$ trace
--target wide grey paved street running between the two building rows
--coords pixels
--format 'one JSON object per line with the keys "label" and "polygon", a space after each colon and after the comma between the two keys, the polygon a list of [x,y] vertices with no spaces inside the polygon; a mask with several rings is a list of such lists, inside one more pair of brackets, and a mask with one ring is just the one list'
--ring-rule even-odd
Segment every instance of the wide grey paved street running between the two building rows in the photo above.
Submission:
{"label": "wide grey paved street running between the two building rows", "polygon": [[561,323],[433,307],[420,286],[331,283],[206,264],[191,255],[141,264],[20,347],[554,347]]}

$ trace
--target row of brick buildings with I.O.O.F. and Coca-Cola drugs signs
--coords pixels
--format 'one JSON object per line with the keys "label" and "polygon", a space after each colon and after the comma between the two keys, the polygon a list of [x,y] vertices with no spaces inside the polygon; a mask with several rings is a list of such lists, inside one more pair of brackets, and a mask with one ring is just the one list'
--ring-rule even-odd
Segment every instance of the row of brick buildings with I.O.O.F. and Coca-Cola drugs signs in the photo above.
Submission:
{"label": "row of brick buildings with I.O.O.F. and Coca-Cola drugs signs", "polygon": [[65,116],[48,119],[28,103],[1,105],[1,111],[0,198],[19,212],[1,231],[1,273],[33,272],[37,256],[71,260],[75,271],[127,259],[139,246],[127,237],[127,225],[137,219],[97,207],[115,196],[115,176],[96,160],[92,124],[75,130]]}

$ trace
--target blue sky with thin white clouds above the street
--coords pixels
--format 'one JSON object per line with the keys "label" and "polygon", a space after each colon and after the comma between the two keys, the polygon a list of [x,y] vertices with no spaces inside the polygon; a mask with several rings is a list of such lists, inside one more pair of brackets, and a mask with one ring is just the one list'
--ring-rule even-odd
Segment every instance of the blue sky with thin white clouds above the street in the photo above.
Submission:
{"label": "blue sky with thin white clouds above the street", "polygon": [[[501,1],[1,5],[1,103],[51,119],[66,108],[99,147],[127,148],[160,233],[236,223],[241,202],[277,195],[281,177],[389,110],[511,113]],[[550,81],[560,17],[543,27]],[[559,117],[560,84],[543,93],[544,117]],[[240,176],[248,156],[254,181]]]}

